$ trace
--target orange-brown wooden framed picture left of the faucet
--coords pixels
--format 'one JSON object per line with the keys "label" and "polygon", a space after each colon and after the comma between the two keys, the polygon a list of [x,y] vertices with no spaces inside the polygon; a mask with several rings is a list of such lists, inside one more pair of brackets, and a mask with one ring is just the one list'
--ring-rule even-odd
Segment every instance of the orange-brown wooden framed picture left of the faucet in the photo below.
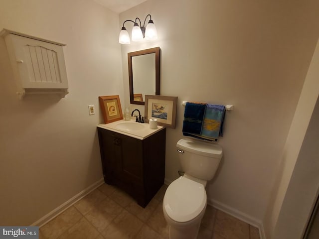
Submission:
{"label": "orange-brown wooden framed picture left of the faucet", "polygon": [[99,96],[99,103],[104,117],[104,123],[123,119],[119,96]]}

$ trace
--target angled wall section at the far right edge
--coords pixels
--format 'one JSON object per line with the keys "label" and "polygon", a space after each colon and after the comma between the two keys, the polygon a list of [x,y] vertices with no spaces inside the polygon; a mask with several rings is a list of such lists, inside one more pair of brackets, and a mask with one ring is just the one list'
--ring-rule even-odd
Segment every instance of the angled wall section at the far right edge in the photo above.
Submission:
{"label": "angled wall section at the far right edge", "polygon": [[[319,190],[319,41],[289,130],[265,217],[269,238],[302,238]],[[317,103],[316,103],[317,102]]]}

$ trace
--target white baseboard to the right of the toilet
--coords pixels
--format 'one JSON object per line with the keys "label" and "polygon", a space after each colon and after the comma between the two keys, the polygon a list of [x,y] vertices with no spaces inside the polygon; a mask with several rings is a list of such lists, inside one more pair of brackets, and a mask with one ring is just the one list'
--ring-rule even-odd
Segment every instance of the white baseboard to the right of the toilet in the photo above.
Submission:
{"label": "white baseboard to the right of the toilet", "polygon": [[259,229],[259,236],[260,236],[260,239],[266,239],[266,236],[265,236],[265,231],[264,231],[264,227],[263,227],[263,224],[261,221],[243,213],[243,212],[240,212],[238,211],[237,209],[234,209],[234,208],[231,208],[223,203],[220,203],[218,201],[215,201],[215,200],[212,200],[212,199],[208,199],[207,201],[207,204],[220,210],[220,211],[223,211],[245,223],[248,223],[250,224],[251,226],[253,227],[256,227]]}

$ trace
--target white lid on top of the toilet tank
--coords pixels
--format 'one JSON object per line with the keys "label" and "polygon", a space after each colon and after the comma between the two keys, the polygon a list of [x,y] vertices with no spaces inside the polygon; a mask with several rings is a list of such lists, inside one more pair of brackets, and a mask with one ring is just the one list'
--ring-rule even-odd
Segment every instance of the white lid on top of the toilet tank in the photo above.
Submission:
{"label": "white lid on top of the toilet tank", "polygon": [[178,140],[176,147],[207,157],[221,158],[223,155],[223,149],[220,145],[192,138],[182,138]]}

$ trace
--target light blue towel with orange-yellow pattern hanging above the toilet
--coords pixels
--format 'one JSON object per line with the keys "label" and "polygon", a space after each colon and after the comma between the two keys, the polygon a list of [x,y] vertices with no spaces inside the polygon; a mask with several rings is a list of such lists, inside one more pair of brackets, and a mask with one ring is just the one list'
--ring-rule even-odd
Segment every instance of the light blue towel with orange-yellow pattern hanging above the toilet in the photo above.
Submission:
{"label": "light blue towel with orange-yellow pattern hanging above the toilet", "polygon": [[217,141],[218,136],[223,136],[223,122],[225,107],[207,105],[200,135],[204,138]]}

